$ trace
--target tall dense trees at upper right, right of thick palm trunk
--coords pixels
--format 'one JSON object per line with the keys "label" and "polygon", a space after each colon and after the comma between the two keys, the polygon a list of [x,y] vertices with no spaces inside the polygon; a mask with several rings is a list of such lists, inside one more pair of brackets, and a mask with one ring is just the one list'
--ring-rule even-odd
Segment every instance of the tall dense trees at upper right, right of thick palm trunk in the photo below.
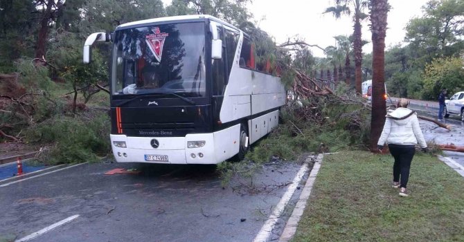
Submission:
{"label": "tall dense trees at upper right, right of thick palm trunk", "polygon": [[[425,71],[432,62],[436,66],[446,63],[449,57],[463,55],[463,5],[463,1],[456,0],[429,1],[422,8],[424,15],[409,21],[406,45],[393,46],[385,53],[385,80],[390,95],[436,100],[440,88],[458,90],[454,82],[444,84],[438,79],[433,85],[425,85],[425,80],[429,80]],[[364,59],[363,70],[367,70],[371,68],[372,55]]]}

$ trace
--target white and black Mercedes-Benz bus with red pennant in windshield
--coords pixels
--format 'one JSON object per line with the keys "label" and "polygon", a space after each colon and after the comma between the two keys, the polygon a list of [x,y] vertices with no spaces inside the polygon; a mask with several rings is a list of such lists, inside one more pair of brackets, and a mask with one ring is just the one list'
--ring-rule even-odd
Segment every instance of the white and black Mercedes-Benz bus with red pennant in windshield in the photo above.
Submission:
{"label": "white and black Mercedes-Benz bus with red pennant in windshield", "polygon": [[208,15],[122,24],[111,34],[89,35],[84,63],[95,41],[112,41],[110,138],[117,162],[241,159],[278,125],[284,86],[270,62],[255,62],[249,35],[231,24]]}

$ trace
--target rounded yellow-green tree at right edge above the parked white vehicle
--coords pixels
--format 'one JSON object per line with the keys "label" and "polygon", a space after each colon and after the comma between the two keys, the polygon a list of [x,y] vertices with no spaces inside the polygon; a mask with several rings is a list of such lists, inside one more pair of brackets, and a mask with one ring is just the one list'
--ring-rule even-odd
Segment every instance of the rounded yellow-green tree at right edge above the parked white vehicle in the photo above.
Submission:
{"label": "rounded yellow-green tree at right edge above the parked white vehicle", "polygon": [[436,99],[441,89],[449,93],[464,90],[464,69],[461,58],[435,59],[425,67],[422,97]]}

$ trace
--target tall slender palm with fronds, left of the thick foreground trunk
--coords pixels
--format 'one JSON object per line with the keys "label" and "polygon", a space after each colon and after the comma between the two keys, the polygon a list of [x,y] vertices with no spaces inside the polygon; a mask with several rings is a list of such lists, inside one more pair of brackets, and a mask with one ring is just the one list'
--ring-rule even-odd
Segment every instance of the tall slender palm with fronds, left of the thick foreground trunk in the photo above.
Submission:
{"label": "tall slender palm with fronds, left of the thick foreground trunk", "polygon": [[361,94],[362,82],[362,32],[361,21],[366,19],[363,10],[367,7],[368,0],[335,0],[335,6],[327,8],[324,13],[331,12],[336,19],[341,15],[351,15],[353,12],[353,21],[355,22],[353,37],[353,52],[355,53],[355,87],[357,93]]}

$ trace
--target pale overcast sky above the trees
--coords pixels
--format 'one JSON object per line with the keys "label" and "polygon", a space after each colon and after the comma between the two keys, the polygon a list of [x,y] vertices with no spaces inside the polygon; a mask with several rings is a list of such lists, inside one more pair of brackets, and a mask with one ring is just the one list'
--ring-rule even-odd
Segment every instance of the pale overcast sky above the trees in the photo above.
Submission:
{"label": "pale overcast sky above the trees", "polygon": [[[386,46],[401,44],[407,23],[413,17],[422,16],[422,6],[428,0],[389,0],[391,10],[388,15]],[[163,0],[165,4],[170,0]],[[325,8],[333,6],[333,0],[253,0],[249,10],[258,26],[275,37],[281,44],[298,36],[307,44],[316,44],[325,48],[334,46],[334,36],[353,34],[351,17],[335,19],[331,14],[323,14]],[[366,10],[366,12],[368,12]],[[369,21],[362,24],[362,38],[371,41]],[[310,48],[317,57],[324,57],[319,48]],[[363,53],[371,53],[372,45],[366,44]]]}

